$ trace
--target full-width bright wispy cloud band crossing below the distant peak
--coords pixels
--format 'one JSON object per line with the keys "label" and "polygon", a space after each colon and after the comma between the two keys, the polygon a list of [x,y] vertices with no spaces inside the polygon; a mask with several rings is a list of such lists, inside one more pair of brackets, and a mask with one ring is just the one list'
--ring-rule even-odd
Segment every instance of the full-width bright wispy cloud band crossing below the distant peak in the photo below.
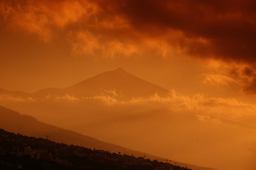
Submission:
{"label": "full-width bright wispy cloud band crossing below the distant peak", "polygon": [[[68,105],[78,104],[82,107],[85,103],[93,103],[92,106],[100,105],[100,107],[142,107],[146,110],[164,109],[170,113],[188,113],[198,120],[209,121],[213,123],[228,123],[242,126],[244,128],[256,129],[256,105],[243,103],[235,98],[215,98],[206,97],[203,94],[195,96],[183,96],[172,90],[169,96],[160,97],[155,94],[149,98],[132,98],[128,101],[120,101],[116,97],[118,94],[115,91],[102,91],[100,96],[78,98],[66,94],[65,96],[46,96],[46,98],[33,97],[14,97],[9,95],[1,95],[2,103],[68,103]],[[87,108],[90,106],[84,106]],[[83,107],[82,107],[83,108]],[[90,108],[93,109],[93,108]]]}

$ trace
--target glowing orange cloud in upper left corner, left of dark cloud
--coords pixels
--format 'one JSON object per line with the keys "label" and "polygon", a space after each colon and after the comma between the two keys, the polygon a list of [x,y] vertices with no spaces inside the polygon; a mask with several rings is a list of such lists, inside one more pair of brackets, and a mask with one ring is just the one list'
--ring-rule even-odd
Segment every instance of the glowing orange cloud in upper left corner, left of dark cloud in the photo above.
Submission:
{"label": "glowing orange cloud in upper left corner, left of dark cloud", "polygon": [[39,35],[44,41],[82,16],[88,18],[95,6],[79,1],[1,1],[0,13],[9,28]]}

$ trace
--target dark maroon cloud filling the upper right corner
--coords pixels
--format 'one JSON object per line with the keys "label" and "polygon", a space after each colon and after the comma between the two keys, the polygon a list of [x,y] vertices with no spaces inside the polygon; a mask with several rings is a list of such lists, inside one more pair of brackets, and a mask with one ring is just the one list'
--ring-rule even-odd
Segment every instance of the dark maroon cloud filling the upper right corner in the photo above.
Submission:
{"label": "dark maroon cloud filling the upper right corner", "polygon": [[[102,0],[103,9],[129,20],[148,35],[181,30],[187,38],[204,38],[210,46],[196,45],[196,55],[238,62],[256,62],[255,1]],[[155,31],[152,31],[154,29]],[[187,44],[195,51],[193,44]],[[207,48],[207,49],[206,49]]]}

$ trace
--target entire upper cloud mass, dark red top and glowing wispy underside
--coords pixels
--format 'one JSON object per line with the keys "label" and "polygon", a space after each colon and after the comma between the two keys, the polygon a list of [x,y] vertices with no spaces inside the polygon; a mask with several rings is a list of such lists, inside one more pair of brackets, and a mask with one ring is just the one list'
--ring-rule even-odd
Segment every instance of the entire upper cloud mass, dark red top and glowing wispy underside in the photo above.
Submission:
{"label": "entire upper cloud mass, dark red top and glowing wispy underside", "polygon": [[[252,0],[10,0],[0,1],[0,21],[2,29],[67,44],[73,56],[142,61],[186,56],[244,64],[248,69],[230,69],[240,72],[232,79],[255,94],[255,8]],[[207,81],[213,79],[228,81],[213,76]]]}

